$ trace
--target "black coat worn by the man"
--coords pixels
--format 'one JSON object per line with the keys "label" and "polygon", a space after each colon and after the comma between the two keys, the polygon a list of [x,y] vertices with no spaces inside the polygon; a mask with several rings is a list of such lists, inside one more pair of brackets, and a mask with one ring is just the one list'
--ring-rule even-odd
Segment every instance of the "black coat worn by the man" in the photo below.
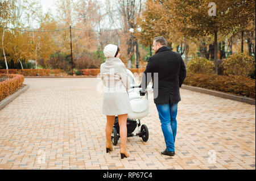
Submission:
{"label": "black coat worn by the man", "polygon": [[185,77],[186,68],[180,53],[161,47],[148,59],[140,86],[145,90],[152,78],[155,104],[178,103],[181,100],[179,88]]}

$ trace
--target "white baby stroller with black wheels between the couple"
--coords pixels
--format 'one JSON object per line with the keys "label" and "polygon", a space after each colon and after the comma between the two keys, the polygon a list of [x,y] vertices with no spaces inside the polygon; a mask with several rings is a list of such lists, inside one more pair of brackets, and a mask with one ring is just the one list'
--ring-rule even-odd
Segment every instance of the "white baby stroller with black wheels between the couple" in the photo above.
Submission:
{"label": "white baby stroller with black wheels between the couple", "polygon": [[[134,85],[134,76],[129,69],[127,72],[132,83],[129,90],[129,99],[131,103],[131,108],[133,112],[129,113],[127,116],[127,137],[139,136],[143,141],[148,140],[148,128],[145,124],[141,125],[141,119],[148,115],[148,92],[142,92],[139,86]],[[145,98],[144,98],[145,97]],[[144,99],[143,99],[144,98]],[[138,127],[138,132],[133,133]],[[112,130],[112,143],[117,145],[119,135],[119,124],[118,117],[115,116],[115,123]]]}

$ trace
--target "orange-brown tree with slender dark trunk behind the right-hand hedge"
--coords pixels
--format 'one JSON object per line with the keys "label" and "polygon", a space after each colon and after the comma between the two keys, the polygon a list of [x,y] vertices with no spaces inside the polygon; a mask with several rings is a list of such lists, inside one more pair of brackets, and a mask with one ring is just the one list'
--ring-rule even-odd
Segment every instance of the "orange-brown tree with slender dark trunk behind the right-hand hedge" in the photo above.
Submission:
{"label": "orange-brown tree with slender dark trunk behind the right-hand hedge", "polygon": [[185,11],[190,14],[189,26],[195,29],[196,36],[214,35],[214,70],[217,74],[217,35],[229,33],[239,26],[241,21],[248,22],[249,19],[245,16],[247,12],[243,11],[243,8],[250,6],[251,2],[239,0],[218,0],[214,3],[210,0],[187,2],[189,6],[185,6]]}

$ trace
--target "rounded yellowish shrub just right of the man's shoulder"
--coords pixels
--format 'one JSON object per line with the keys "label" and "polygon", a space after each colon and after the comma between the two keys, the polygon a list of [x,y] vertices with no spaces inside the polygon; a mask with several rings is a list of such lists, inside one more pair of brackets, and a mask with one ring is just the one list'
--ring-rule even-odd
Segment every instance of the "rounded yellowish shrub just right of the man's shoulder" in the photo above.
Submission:
{"label": "rounded yellowish shrub just right of the man's shoulder", "polygon": [[188,71],[191,73],[214,73],[214,62],[197,57],[188,62]]}

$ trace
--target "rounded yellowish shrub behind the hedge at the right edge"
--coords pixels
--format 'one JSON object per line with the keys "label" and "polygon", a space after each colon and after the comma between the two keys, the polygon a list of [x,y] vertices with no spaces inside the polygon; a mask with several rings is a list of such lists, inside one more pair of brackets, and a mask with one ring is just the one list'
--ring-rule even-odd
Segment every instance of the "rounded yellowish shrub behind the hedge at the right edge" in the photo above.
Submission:
{"label": "rounded yellowish shrub behind the hedge at the right edge", "polygon": [[225,75],[242,75],[248,77],[255,69],[255,60],[246,53],[234,53],[224,61]]}

